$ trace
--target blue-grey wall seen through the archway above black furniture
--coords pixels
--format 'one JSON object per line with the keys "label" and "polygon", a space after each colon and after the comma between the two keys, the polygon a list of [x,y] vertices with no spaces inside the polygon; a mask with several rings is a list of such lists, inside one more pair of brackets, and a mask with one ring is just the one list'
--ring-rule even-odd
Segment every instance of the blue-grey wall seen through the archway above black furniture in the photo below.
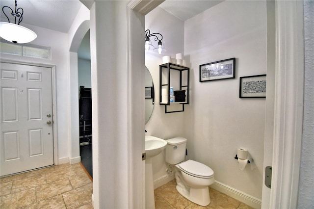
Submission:
{"label": "blue-grey wall seen through the archway above black furniture", "polygon": [[78,59],[78,87],[91,88],[90,60]]}

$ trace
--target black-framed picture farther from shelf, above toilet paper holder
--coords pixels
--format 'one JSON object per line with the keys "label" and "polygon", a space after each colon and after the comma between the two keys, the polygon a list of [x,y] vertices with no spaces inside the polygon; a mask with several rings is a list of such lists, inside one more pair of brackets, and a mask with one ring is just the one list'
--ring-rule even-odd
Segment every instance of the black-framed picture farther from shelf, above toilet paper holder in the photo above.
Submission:
{"label": "black-framed picture farther from shelf, above toilet paper holder", "polygon": [[266,74],[240,77],[239,98],[266,98]]}

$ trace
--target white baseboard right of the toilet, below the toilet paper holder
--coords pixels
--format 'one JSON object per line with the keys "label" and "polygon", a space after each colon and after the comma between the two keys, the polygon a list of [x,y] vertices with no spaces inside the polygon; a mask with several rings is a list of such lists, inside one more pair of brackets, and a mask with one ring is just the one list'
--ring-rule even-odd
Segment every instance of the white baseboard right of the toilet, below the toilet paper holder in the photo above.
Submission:
{"label": "white baseboard right of the toilet, below the toilet paper holder", "polygon": [[248,195],[244,192],[241,192],[226,184],[215,181],[209,187],[216,189],[217,191],[220,191],[221,193],[224,193],[232,198],[235,198],[236,200],[242,203],[245,203],[246,205],[251,206],[252,208],[255,208],[255,209],[262,208],[262,200],[255,198],[251,195]]}

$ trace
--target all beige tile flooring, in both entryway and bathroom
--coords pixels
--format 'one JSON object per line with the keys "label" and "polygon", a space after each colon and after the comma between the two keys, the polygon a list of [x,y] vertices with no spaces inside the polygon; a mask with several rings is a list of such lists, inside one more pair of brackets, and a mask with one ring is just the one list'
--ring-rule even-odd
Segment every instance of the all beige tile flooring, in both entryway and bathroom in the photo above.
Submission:
{"label": "all beige tile flooring, in both entryway and bathroom", "polygon": [[[0,209],[93,209],[90,177],[79,163],[62,164],[0,179]],[[155,189],[156,209],[252,209],[209,188],[211,202],[196,205],[181,196],[175,180]]]}

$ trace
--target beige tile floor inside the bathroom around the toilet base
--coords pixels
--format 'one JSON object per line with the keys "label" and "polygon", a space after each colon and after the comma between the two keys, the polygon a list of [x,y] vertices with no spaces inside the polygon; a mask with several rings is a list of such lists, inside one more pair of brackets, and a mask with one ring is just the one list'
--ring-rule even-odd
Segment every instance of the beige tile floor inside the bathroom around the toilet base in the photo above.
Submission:
{"label": "beige tile floor inside the bathroom around the toilet base", "polygon": [[199,206],[184,198],[176,190],[176,180],[155,189],[156,209],[252,209],[215,189],[209,187],[210,204]]}

